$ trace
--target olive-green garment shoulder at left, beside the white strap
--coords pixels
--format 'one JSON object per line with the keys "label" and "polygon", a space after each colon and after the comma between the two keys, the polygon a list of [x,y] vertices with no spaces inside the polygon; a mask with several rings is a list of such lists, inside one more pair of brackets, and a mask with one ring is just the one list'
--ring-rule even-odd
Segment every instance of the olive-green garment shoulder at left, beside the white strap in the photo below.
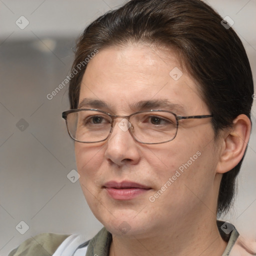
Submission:
{"label": "olive-green garment shoulder at left, beside the white strap", "polygon": [[69,234],[40,233],[23,241],[8,256],[49,256],[65,240]]}

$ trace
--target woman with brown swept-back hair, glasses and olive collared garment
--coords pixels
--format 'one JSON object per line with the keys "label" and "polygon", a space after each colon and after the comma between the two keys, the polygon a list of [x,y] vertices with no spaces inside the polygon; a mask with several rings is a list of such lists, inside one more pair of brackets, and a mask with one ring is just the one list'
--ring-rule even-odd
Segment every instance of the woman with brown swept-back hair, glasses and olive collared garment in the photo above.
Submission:
{"label": "woman with brown swept-back hair, glasses and olive collared garment", "polygon": [[62,116],[104,228],[9,255],[253,255],[216,220],[251,129],[251,70],[228,19],[199,0],[131,0],[86,27],[72,71]]}

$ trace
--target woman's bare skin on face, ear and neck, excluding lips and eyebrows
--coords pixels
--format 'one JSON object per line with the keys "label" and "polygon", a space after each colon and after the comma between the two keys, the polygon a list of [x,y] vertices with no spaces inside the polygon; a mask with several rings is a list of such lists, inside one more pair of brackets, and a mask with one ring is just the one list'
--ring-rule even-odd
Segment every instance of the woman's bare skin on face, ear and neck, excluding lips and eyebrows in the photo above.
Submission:
{"label": "woman's bare skin on face, ear and neck, excluding lips and eyebrows", "polygon": [[[176,81],[169,75],[174,67],[183,73]],[[183,110],[161,107],[178,115],[211,114],[196,81],[180,65],[175,52],[142,44],[101,49],[83,75],[79,103],[84,98],[105,101],[107,105],[97,109],[116,115],[129,115],[139,110],[129,104],[152,99],[182,105]],[[176,137],[162,144],[136,142],[118,127],[121,119],[115,120],[106,141],[75,142],[86,201],[112,233],[109,255],[221,255],[226,242],[216,226],[219,183],[222,173],[235,166],[244,153],[248,118],[237,117],[234,128],[221,131],[217,141],[210,118],[183,120]],[[149,196],[198,151],[200,156],[151,202]],[[103,188],[110,180],[130,180],[150,189],[130,200],[115,200]],[[125,233],[119,227],[123,221]]]}

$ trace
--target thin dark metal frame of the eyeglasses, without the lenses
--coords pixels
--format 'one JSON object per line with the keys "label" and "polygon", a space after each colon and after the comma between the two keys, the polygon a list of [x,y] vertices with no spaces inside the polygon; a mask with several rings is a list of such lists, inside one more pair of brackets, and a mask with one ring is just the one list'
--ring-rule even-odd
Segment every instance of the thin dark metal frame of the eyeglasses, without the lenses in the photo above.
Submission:
{"label": "thin dark metal frame of the eyeglasses, without the lenses", "polygon": [[[83,110],[98,111],[98,112],[107,114],[107,115],[111,118],[111,128],[110,128],[109,134],[107,135],[106,138],[104,138],[104,139],[102,139],[102,140],[99,140],[99,141],[89,141],[89,142],[86,142],[86,141],[77,140],[77,139],[75,139],[75,138],[73,138],[73,137],[71,136],[70,131],[69,131],[69,129],[68,129],[68,125],[67,125],[67,115],[68,115],[69,113],[79,112],[79,111],[83,111]],[[115,118],[117,118],[117,117],[122,117],[122,118],[127,119],[128,122],[129,122],[130,116],[132,116],[132,115],[134,115],[134,114],[146,113],[146,112],[168,112],[168,113],[173,114],[173,115],[175,116],[175,119],[176,119],[176,132],[175,132],[175,135],[173,136],[173,138],[170,139],[170,140],[163,141],[163,142],[152,142],[152,143],[151,143],[151,142],[142,142],[142,141],[137,140],[137,139],[134,137],[134,135],[133,135],[133,133],[131,132],[130,127],[129,127],[128,130],[129,130],[129,133],[130,133],[130,135],[132,136],[132,138],[134,138],[137,142],[142,143],[142,144],[161,144],[161,143],[166,143],[166,142],[169,142],[169,141],[173,140],[173,139],[176,137],[176,135],[177,135],[177,131],[178,131],[178,121],[179,121],[179,120],[182,120],[182,119],[201,119],[201,118],[213,117],[213,114],[181,116],[181,115],[177,115],[177,114],[173,113],[172,111],[161,110],[161,109],[150,109],[150,110],[144,110],[144,111],[137,111],[137,112],[134,112],[134,113],[132,113],[132,114],[130,114],[130,115],[115,115],[115,114],[110,114],[110,113],[108,113],[108,112],[105,112],[105,111],[99,110],[99,109],[93,109],[93,108],[75,108],[75,109],[69,109],[69,110],[63,111],[63,112],[62,112],[62,118],[65,119],[67,132],[68,132],[69,136],[70,136],[74,141],[77,141],[77,142],[80,142],[80,143],[97,143],[97,142],[105,141],[105,140],[109,137],[109,135],[110,135],[110,133],[111,133],[111,131],[112,131],[112,128],[113,128],[113,123],[114,123],[114,119],[115,119]]]}

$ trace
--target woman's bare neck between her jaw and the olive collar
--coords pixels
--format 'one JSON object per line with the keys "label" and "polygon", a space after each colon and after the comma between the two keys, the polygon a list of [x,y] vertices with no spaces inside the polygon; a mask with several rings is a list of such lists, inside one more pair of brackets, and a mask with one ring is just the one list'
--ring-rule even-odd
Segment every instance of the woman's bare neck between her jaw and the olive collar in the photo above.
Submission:
{"label": "woman's bare neck between her jaw and the olive collar", "polygon": [[113,235],[109,256],[221,256],[227,243],[222,240],[213,217],[200,216],[193,222],[175,223],[152,235],[148,232],[146,237]]}

